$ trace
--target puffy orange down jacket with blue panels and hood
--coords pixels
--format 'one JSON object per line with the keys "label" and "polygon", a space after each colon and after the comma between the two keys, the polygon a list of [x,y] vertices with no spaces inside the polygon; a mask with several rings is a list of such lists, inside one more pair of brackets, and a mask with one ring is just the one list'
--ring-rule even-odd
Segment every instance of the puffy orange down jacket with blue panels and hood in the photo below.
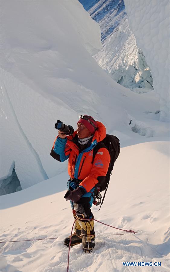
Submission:
{"label": "puffy orange down jacket with blue panels and hood", "polygon": [[97,130],[92,138],[90,146],[80,152],[76,145],[78,141],[77,131],[74,131],[72,136],[67,136],[66,139],[56,137],[51,156],[61,162],[69,159],[68,173],[70,178],[81,180],[79,186],[86,189],[87,193],[99,182],[102,181],[107,174],[110,163],[109,151],[102,147],[95,155],[93,164],[93,148],[98,142],[106,137],[105,126],[97,121]]}

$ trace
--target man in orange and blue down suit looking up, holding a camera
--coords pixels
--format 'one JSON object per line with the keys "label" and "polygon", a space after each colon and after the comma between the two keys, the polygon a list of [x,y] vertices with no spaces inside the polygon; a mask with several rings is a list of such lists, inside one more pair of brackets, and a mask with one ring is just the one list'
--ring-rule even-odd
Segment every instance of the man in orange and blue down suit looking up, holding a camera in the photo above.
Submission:
{"label": "man in orange and blue down suit looking up, holding a camera", "polygon": [[[81,219],[76,220],[75,233],[72,235],[71,245],[83,245],[84,251],[92,251],[95,246],[94,216],[91,212],[94,196],[107,174],[110,155],[106,148],[99,148],[93,160],[93,148],[106,137],[105,126],[95,121],[91,116],[84,115],[77,122],[77,131],[67,136],[58,132],[51,156],[58,161],[68,161],[68,191],[64,196],[70,200],[72,209]],[[64,240],[67,246],[70,236]]]}

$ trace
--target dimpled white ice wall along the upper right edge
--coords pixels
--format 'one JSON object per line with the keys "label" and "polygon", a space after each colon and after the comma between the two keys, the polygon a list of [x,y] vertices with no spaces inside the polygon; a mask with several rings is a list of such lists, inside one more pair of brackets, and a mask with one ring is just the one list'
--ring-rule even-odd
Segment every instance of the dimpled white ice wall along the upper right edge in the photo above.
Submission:
{"label": "dimpled white ice wall along the upper right edge", "polygon": [[169,121],[169,1],[125,0],[137,46],[151,68],[159,96],[160,121]]}

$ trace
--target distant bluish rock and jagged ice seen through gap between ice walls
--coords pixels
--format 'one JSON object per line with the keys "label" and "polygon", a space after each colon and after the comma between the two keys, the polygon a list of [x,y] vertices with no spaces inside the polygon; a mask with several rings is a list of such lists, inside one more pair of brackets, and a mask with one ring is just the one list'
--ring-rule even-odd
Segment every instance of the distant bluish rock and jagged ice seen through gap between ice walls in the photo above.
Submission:
{"label": "distant bluish rock and jagged ice seen through gap between ice walls", "polygon": [[153,90],[152,75],[142,50],[136,46],[124,1],[79,1],[101,28],[103,48],[94,56],[101,68],[134,92]]}

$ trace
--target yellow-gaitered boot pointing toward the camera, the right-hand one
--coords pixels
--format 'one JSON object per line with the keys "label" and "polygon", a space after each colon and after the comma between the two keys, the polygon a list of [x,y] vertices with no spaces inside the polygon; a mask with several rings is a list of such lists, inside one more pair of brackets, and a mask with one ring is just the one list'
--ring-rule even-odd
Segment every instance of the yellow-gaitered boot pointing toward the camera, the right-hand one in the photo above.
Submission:
{"label": "yellow-gaitered boot pointing toward the camera, the right-hand one", "polygon": [[95,247],[94,220],[77,221],[82,228],[83,251],[88,251],[90,253]]}

